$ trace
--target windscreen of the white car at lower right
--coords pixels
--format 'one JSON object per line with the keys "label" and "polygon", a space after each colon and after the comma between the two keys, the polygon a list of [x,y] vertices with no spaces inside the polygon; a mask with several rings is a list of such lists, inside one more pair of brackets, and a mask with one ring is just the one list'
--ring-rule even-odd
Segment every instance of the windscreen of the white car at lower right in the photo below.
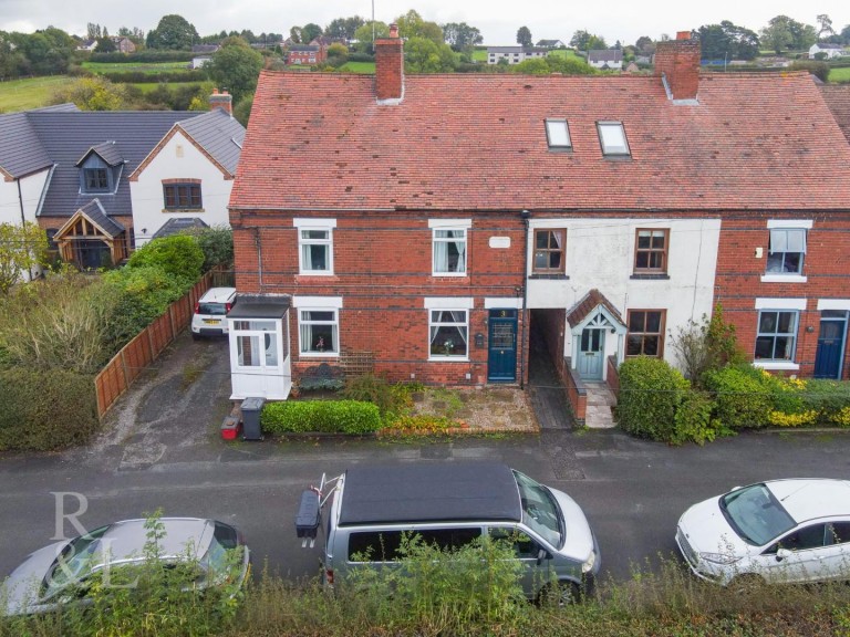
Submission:
{"label": "windscreen of the white car at lower right", "polygon": [[726,493],[719,505],[735,533],[755,546],[764,546],[797,525],[766,484]]}

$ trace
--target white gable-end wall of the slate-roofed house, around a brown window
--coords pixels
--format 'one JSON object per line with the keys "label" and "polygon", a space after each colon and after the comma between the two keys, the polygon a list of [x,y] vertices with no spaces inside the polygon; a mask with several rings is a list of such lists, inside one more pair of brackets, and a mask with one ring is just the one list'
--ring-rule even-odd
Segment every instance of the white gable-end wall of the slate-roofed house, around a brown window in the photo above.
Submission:
{"label": "white gable-end wall of the slate-roofed house, around a brown window", "polygon": [[[201,210],[165,210],[163,180],[200,179]],[[234,181],[182,132],[172,137],[129,185],[136,246],[147,243],[173,218],[198,218],[209,226],[230,226],[227,202]],[[143,230],[145,230],[143,232]]]}

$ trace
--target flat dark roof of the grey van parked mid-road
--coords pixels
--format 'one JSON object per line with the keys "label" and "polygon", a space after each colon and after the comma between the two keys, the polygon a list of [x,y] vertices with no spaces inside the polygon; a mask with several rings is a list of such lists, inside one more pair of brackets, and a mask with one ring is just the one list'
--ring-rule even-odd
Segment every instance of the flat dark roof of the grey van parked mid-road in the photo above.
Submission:
{"label": "flat dark roof of the grey van parked mid-road", "polygon": [[345,472],[339,524],[521,520],[514,472],[493,462],[354,467]]}

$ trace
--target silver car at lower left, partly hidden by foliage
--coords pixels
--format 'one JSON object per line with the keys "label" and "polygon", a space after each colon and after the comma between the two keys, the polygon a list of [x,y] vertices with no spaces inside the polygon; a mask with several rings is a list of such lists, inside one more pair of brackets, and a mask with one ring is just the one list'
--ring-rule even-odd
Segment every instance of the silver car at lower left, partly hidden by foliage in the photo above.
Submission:
{"label": "silver car at lower left, partly hidden by foliage", "polygon": [[[6,615],[49,613],[69,603],[91,604],[87,581],[145,563],[146,522],[115,522],[35,551],[2,585]],[[166,567],[191,564],[197,570],[193,588],[228,584],[237,591],[243,585],[250,552],[234,526],[198,518],[162,518],[157,524],[164,534],[157,544],[158,560]]]}

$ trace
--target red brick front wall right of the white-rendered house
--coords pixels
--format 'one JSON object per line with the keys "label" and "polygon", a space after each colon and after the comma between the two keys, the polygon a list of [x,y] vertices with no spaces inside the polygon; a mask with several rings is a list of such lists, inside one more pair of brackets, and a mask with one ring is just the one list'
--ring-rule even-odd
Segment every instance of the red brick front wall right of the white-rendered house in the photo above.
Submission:
{"label": "red brick front wall right of the white-rendered house", "polygon": [[[768,219],[812,220],[807,234],[807,253],[802,274],[806,283],[763,283],[767,265],[769,230]],[[761,258],[755,257],[761,248]],[[806,311],[800,312],[797,331],[796,363],[798,375],[811,376],[815,369],[818,332],[820,326],[820,299],[850,297],[850,212],[786,215],[746,212],[727,216],[723,220],[717,255],[715,302],[723,305],[724,317],[733,323],[738,343],[751,359],[756,346],[758,311],[757,297],[806,299]],[[811,327],[812,332],[807,332]],[[846,347],[844,378],[848,378],[850,358]]]}

